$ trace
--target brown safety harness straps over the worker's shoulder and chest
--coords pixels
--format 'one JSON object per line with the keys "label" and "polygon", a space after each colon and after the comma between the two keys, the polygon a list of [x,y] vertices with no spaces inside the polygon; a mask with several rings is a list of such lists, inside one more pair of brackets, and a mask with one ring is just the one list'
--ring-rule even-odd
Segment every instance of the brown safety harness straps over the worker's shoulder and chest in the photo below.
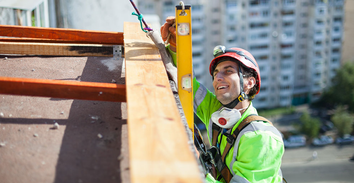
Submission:
{"label": "brown safety harness straps over the worker's shoulder and chest", "polygon": [[[226,155],[229,153],[231,147],[234,145],[237,136],[240,134],[240,131],[254,121],[265,121],[273,126],[272,122],[270,122],[268,119],[266,119],[262,116],[258,116],[256,114],[251,114],[250,116],[247,116],[244,120],[242,120],[242,122],[239,124],[239,126],[236,128],[236,130],[233,132],[233,134],[226,134],[225,135],[227,137],[227,144],[225,146],[224,152],[223,152],[221,158],[219,158],[220,155],[217,154],[216,155],[217,158],[215,158],[215,160],[216,160],[216,164],[217,164],[216,168],[220,172],[222,178],[224,178],[224,180],[226,182],[230,182],[233,177],[230,169],[225,164]],[[214,126],[216,126],[218,128],[216,128]],[[213,124],[213,139],[212,139],[213,144],[212,144],[212,146],[216,147],[217,139],[218,139],[220,132],[221,132],[221,127],[217,126],[216,124]],[[214,176],[214,178],[216,178],[215,174],[213,176]]]}

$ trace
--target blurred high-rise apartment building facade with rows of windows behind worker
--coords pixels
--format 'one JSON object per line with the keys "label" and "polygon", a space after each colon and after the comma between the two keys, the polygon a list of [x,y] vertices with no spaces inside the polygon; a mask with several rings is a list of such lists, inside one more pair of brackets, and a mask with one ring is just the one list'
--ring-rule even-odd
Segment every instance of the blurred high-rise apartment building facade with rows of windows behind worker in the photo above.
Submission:
{"label": "blurred high-rise apartment building facade with rows of windows behind worker", "polygon": [[[174,14],[174,0],[145,0],[139,6]],[[209,63],[217,45],[252,53],[261,72],[258,108],[317,100],[340,66],[344,0],[190,0],[193,66],[213,91]],[[153,10],[154,9],[154,10]],[[142,11],[142,12],[145,12]]]}

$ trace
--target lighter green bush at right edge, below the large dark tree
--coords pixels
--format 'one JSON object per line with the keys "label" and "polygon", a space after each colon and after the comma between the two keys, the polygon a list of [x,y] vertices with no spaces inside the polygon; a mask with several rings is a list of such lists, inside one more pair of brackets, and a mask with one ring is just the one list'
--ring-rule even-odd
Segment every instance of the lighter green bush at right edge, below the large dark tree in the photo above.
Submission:
{"label": "lighter green bush at right edge, below the large dark tree", "polygon": [[343,106],[338,106],[331,117],[333,124],[338,129],[338,135],[350,134],[353,131],[353,116]]}

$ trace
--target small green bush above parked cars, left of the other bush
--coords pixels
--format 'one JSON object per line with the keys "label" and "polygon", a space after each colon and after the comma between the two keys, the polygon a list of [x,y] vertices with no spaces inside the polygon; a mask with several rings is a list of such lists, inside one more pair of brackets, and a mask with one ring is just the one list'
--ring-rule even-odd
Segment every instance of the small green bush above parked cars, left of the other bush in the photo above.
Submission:
{"label": "small green bush above parked cars, left of the other bush", "polygon": [[321,122],[319,118],[312,118],[309,113],[304,112],[300,117],[300,131],[310,138],[317,137]]}

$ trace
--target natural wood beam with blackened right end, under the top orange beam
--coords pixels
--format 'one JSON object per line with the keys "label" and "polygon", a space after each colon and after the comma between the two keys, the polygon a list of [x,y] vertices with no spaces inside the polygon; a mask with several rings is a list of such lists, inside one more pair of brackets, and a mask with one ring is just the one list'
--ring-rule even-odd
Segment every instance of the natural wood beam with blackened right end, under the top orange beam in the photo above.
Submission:
{"label": "natural wood beam with blackened right end, under the top orange beam", "polygon": [[112,45],[0,42],[0,54],[113,57]]}

